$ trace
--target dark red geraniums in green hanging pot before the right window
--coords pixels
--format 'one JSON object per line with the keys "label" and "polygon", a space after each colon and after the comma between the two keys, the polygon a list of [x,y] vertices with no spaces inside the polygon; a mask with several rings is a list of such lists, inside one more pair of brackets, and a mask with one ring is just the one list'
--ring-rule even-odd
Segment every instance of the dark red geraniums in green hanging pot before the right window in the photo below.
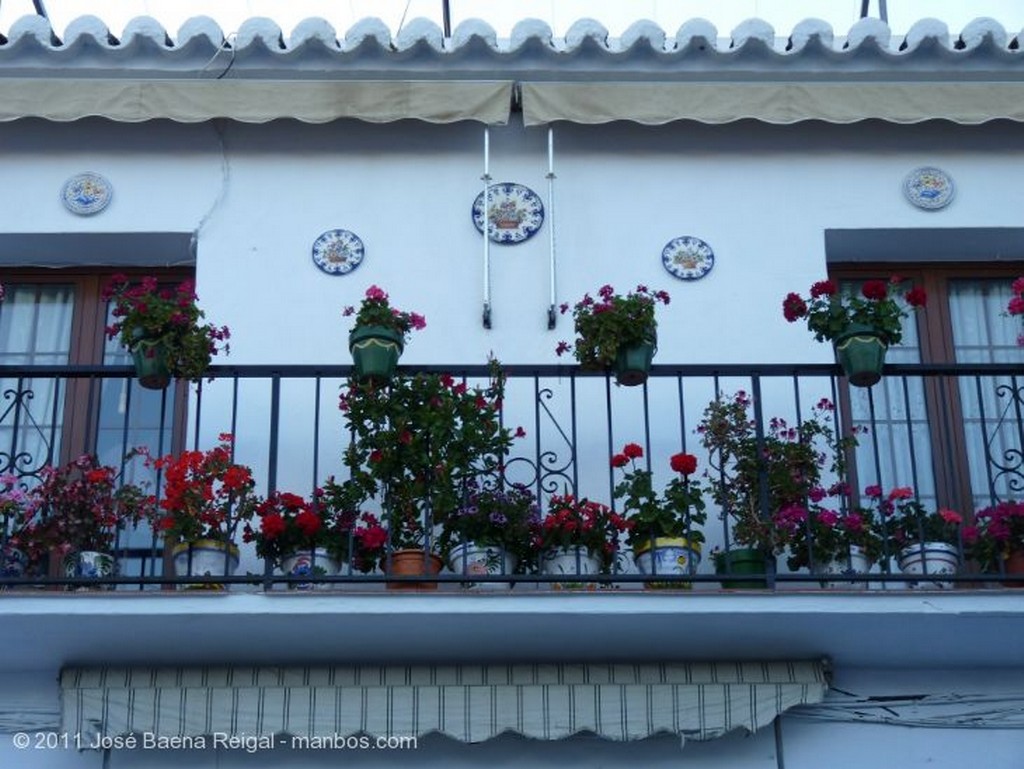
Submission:
{"label": "dark red geraniums in green hanging pot before the right window", "polygon": [[858,296],[841,294],[835,281],[818,281],[808,299],[787,294],[782,314],[790,323],[805,319],[817,341],[833,343],[850,384],[870,387],[882,379],[886,351],[903,338],[906,308],[920,309],[928,300],[923,288],[904,293],[902,284],[898,275],[865,281]]}

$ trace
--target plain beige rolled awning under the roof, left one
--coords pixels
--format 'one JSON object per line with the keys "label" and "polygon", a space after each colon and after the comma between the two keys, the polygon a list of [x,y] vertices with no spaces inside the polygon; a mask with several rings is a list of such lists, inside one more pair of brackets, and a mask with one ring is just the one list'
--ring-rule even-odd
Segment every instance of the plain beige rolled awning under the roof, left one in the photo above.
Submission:
{"label": "plain beige rolled awning under the roof, left one", "polygon": [[292,118],[327,123],[355,118],[498,125],[508,122],[511,105],[511,81],[0,79],[0,121],[99,117],[124,123],[158,118],[265,123]]}

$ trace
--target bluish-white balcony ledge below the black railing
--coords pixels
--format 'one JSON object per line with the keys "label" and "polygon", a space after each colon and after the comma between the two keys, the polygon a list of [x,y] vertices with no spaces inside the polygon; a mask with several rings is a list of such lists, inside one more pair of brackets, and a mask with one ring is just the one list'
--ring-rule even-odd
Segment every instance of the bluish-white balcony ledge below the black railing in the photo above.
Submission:
{"label": "bluish-white balcony ledge below the black railing", "polygon": [[[1014,590],[7,593],[0,673],[66,665],[701,661],[1000,667]],[[1008,656],[1009,655],[1009,656]]]}

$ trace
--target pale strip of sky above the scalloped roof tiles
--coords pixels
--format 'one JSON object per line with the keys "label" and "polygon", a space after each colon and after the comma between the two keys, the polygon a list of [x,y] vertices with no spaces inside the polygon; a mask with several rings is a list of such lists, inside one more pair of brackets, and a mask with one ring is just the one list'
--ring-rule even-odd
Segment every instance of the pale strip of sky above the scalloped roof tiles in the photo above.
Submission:
{"label": "pale strip of sky above the scalloped roof tiles", "polygon": [[[440,0],[43,0],[43,4],[61,38],[68,25],[83,15],[101,18],[115,37],[121,36],[129,19],[152,16],[172,39],[182,23],[197,15],[216,20],[226,36],[256,16],[276,22],[286,38],[311,16],[327,19],[339,37],[368,16],[381,18],[392,33],[417,17],[441,27]],[[878,17],[882,4],[895,35],[906,34],[914,22],[926,17],[945,22],[952,34],[980,16],[999,22],[1011,37],[1024,30],[1024,0],[870,0],[869,15]],[[787,37],[799,22],[810,17],[827,22],[842,37],[860,17],[861,0],[451,0],[450,6],[453,28],[467,18],[483,18],[506,38],[522,18],[547,22],[558,37],[580,18],[601,22],[612,37],[642,18],[655,22],[670,36],[686,20],[706,18],[721,37],[728,37],[744,19],[763,18],[777,36]],[[6,34],[17,18],[34,12],[32,0],[0,0],[0,33]]]}

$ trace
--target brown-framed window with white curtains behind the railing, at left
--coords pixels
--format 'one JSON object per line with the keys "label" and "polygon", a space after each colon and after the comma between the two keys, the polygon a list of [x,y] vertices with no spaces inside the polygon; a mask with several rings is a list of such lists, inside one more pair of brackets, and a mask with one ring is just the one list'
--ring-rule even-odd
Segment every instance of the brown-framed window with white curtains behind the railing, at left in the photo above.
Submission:
{"label": "brown-framed window with white curtains behind the railing, at left", "polygon": [[[105,338],[110,308],[100,298],[113,271],[6,272],[0,303],[0,362],[4,366],[125,366],[128,352]],[[180,271],[147,270],[177,283]],[[147,446],[154,455],[180,446],[184,388],[146,390],[131,377],[52,375],[0,378],[0,472],[31,478],[47,464],[63,464],[86,453],[120,468],[127,451]],[[175,429],[178,428],[178,429]],[[140,463],[126,469],[126,481],[153,481]],[[152,571],[152,532],[141,527],[122,535],[119,549],[125,575]],[[147,566],[153,563],[154,566]]]}

